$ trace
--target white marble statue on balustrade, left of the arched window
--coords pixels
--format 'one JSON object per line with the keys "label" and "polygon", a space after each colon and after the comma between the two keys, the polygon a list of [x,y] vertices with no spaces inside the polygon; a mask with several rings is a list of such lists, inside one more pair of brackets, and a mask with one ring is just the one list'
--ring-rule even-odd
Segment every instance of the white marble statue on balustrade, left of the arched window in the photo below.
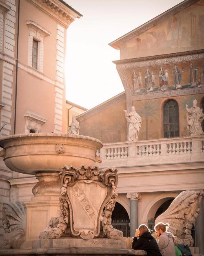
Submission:
{"label": "white marble statue on balustrade, left of the arched window", "polygon": [[129,141],[136,141],[138,140],[138,135],[140,131],[140,127],[142,125],[142,118],[137,114],[135,111],[135,107],[131,107],[131,112],[125,112],[126,120],[129,122],[129,134],[128,134],[128,140]]}

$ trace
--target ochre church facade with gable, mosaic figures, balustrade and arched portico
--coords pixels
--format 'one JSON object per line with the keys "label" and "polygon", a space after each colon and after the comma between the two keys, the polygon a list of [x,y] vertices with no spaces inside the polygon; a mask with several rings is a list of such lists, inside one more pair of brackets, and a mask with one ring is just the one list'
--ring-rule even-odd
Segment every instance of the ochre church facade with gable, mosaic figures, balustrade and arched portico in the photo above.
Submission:
{"label": "ochre church facade with gable, mosaic figures, balustrade and arched portico", "polygon": [[[185,0],[111,42],[124,92],[77,117],[80,134],[103,143],[98,166],[118,169],[112,221],[123,230],[130,223],[130,236],[152,227],[182,191],[204,189],[204,135],[189,132],[186,115],[194,100],[204,109],[203,14],[203,0]],[[132,106],[142,119],[138,140],[129,136]],[[203,200],[194,228],[204,254]]]}

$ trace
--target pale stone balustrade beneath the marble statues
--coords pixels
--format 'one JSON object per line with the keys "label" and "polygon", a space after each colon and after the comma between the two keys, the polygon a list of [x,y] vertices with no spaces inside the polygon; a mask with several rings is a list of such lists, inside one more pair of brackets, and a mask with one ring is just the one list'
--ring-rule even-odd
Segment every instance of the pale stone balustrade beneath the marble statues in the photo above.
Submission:
{"label": "pale stone balustrade beneath the marble statues", "polygon": [[106,143],[100,167],[191,163],[204,159],[204,136]]}

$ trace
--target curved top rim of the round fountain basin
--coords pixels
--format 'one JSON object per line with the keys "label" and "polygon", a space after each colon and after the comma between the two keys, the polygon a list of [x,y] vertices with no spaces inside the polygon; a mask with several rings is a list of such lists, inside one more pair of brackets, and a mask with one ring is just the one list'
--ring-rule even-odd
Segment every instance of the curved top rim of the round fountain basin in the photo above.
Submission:
{"label": "curved top rim of the round fountain basin", "polygon": [[13,135],[10,135],[10,136],[7,136],[7,137],[4,137],[4,138],[0,138],[0,147],[4,147],[1,143],[4,141],[4,140],[9,140],[9,139],[15,139],[15,138],[27,138],[27,137],[64,137],[64,138],[78,138],[78,139],[86,139],[86,140],[91,140],[91,141],[94,141],[96,143],[99,143],[101,144],[101,147],[103,147],[103,144],[100,140],[96,139],[96,138],[93,138],[93,137],[89,137],[89,136],[85,136],[85,135],[79,135],[79,134],[66,134],[66,133],[53,133],[53,132],[50,132],[50,133],[29,133],[29,134],[13,134]]}

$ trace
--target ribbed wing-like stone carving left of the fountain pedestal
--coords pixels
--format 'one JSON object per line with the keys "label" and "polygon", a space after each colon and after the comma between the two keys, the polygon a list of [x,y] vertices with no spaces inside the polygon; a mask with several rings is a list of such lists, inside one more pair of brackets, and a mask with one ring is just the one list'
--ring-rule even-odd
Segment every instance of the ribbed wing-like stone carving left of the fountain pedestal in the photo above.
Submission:
{"label": "ribbed wing-like stone carving left of the fountain pedestal", "polygon": [[[5,202],[2,209],[4,238],[1,248],[16,248],[25,240],[26,213],[22,201]],[[18,241],[15,243],[14,241]]]}

